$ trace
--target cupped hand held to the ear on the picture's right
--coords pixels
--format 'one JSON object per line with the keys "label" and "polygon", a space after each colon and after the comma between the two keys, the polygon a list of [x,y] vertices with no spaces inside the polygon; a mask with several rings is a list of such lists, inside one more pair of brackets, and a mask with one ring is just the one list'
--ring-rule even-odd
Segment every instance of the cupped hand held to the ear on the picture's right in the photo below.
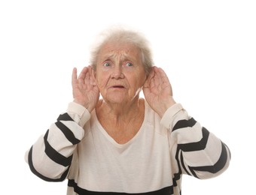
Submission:
{"label": "cupped hand held to the ear on the picture's right", "polygon": [[161,68],[153,67],[143,86],[143,93],[149,106],[160,117],[175,104],[172,98],[172,86]]}

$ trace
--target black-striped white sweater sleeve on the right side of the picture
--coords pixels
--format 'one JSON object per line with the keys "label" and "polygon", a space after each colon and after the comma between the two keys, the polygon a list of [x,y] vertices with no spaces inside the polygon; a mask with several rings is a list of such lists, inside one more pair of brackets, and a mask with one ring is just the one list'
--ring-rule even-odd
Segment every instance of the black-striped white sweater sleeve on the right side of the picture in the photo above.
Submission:
{"label": "black-striped white sweater sleeve on the right side of the picture", "polygon": [[171,147],[175,148],[171,152],[178,163],[177,174],[212,178],[227,169],[230,163],[227,145],[187,115],[181,104],[166,110],[160,122],[169,129]]}

